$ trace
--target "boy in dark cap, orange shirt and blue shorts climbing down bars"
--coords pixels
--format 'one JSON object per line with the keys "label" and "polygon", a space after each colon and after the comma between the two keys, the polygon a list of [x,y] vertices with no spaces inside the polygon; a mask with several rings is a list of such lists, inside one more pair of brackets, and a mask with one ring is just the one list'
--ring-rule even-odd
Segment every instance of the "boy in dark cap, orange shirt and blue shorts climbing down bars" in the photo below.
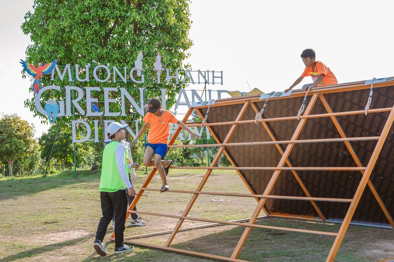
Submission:
{"label": "boy in dark cap, orange shirt and blue shorts climbing down bars", "polygon": [[[193,133],[183,122],[176,119],[171,112],[164,110],[162,102],[157,98],[149,100],[146,112],[143,119],[145,123],[142,125],[141,130],[131,142],[130,146],[134,146],[135,143],[137,143],[138,138],[145,132],[148,125],[150,125],[148,143],[145,145],[143,164],[146,167],[155,166],[163,182],[160,192],[164,192],[169,189],[165,176],[168,174],[169,167],[172,164],[172,160],[164,160],[165,154],[167,153],[169,124],[176,123],[178,126],[188,131],[193,138],[199,138],[199,136]],[[155,158],[152,159],[154,155]]]}

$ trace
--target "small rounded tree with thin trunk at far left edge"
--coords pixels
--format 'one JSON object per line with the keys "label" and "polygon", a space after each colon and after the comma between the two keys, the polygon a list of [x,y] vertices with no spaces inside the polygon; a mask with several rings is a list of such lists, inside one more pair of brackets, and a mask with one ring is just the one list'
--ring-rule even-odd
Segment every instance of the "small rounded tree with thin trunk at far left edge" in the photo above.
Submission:
{"label": "small rounded tree with thin trunk at far left edge", "polygon": [[0,155],[8,163],[9,176],[12,177],[15,160],[23,159],[34,147],[34,127],[17,115],[0,118]]}

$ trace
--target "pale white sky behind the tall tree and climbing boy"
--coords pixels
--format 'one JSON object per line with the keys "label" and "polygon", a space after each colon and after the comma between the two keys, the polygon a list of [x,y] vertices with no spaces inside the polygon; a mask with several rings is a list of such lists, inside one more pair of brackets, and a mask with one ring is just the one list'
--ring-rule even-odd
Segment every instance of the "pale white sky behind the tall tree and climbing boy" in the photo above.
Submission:
{"label": "pale white sky behind the tall tree and climbing boy", "polygon": [[[18,114],[40,137],[50,125],[24,107],[33,93],[19,63],[31,44],[20,27],[32,6],[33,0],[0,1],[0,113]],[[208,89],[241,92],[291,86],[304,69],[306,48],[339,83],[394,76],[393,7],[392,0],[194,0],[187,62],[193,70],[223,71],[223,86]],[[304,78],[295,89],[311,82]]]}

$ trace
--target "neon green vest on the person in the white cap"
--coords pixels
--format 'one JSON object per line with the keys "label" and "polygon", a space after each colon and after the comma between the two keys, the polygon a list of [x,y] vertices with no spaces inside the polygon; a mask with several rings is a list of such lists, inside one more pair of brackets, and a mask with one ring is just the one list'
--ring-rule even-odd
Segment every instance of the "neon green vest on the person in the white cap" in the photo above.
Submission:
{"label": "neon green vest on the person in the white cap", "polygon": [[[121,188],[127,188],[119,174],[115,161],[115,148],[119,142],[112,141],[104,147],[102,153],[102,168],[100,177],[100,192],[116,192]],[[125,155],[125,169],[127,168],[127,156]]]}

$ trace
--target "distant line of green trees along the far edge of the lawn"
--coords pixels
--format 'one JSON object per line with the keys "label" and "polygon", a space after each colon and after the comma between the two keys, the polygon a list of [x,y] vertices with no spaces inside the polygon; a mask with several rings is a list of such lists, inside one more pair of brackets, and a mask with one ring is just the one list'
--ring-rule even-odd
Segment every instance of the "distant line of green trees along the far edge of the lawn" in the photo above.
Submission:
{"label": "distant line of green trees along the far edge of the lawn", "polygon": [[[58,131],[58,126],[55,124],[47,133],[34,139],[34,126],[26,120],[17,115],[1,115],[0,117],[0,165],[3,177],[46,175],[73,169],[74,144],[70,129],[60,128]],[[198,120],[201,119],[195,119],[195,121]],[[82,138],[80,134],[76,136],[77,139]],[[184,133],[183,137],[187,137],[187,133]],[[142,163],[145,143],[146,141],[141,139],[136,146],[131,148],[134,162]],[[174,143],[174,145],[189,144],[216,144],[216,141],[212,136],[207,139],[204,129],[199,139],[175,140]],[[104,146],[104,143],[76,143],[76,168],[90,169],[93,163],[97,163],[100,168]],[[177,166],[208,166],[217,150],[217,147],[176,147],[169,150],[166,159],[172,159]],[[226,157],[221,157],[220,165],[230,166],[230,162]]]}

